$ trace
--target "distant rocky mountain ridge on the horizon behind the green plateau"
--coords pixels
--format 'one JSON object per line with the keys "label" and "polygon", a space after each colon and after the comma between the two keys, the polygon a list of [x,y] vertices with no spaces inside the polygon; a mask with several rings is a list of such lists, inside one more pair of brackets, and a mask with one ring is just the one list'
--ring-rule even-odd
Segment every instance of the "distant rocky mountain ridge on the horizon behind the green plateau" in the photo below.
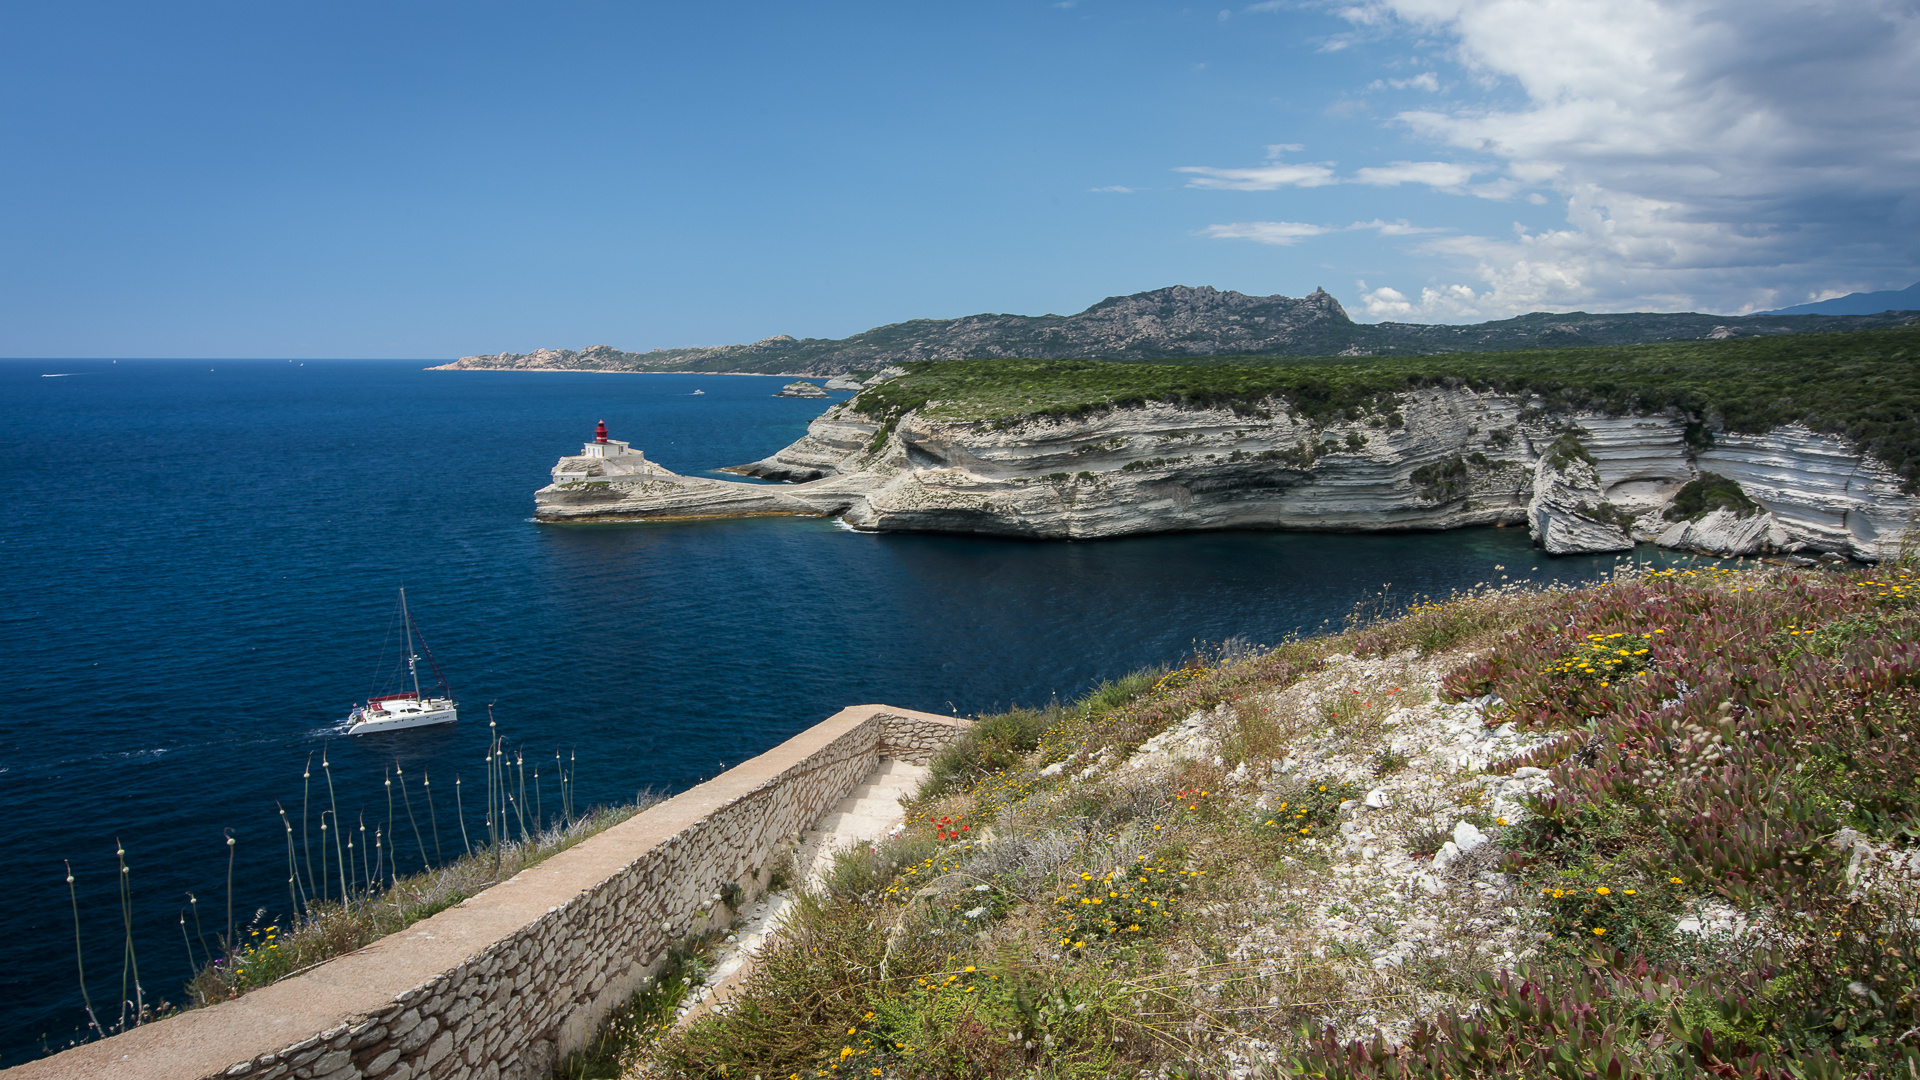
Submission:
{"label": "distant rocky mountain ridge on the horizon behind the green plateau", "polygon": [[849,338],[778,334],[753,344],[622,352],[612,346],[463,356],[436,371],[737,371],[841,375],[918,359],[1177,361],[1208,356],[1419,356],[1619,346],[1893,327],[1914,315],[1701,315],[1536,311],[1475,325],[1356,323],[1327,290],[1246,296],[1212,286],[1108,296],[1077,315],[964,315],[889,323]]}

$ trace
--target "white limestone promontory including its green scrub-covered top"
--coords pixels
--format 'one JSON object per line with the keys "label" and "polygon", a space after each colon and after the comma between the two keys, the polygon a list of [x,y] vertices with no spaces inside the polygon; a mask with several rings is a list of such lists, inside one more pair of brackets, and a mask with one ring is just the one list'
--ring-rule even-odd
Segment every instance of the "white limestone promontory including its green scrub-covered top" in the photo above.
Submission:
{"label": "white limestone promontory including its green scrub-covered top", "polygon": [[1916,352],[1907,329],[1367,363],[912,363],[733,469],[783,484],[563,459],[536,513],[1027,538],[1524,525],[1549,553],[1884,559],[1916,511]]}

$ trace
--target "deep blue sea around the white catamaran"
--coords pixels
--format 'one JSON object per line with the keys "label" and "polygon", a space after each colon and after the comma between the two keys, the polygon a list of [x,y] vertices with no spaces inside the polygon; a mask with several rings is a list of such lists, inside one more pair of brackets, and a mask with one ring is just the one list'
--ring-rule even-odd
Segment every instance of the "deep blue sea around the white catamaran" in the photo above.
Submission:
{"label": "deep blue sea around the white catamaran", "polygon": [[[824,402],[774,398],[783,382],[0,361],[0,1063],[81,1022],[63,859],[96,1007],[115,1011],[123,967],[115,842],[142,984],[179,999],[186,894],[209,934],[225,922],[223,830],[236,920],[288,907],[275,801],[298,807],[323,748],[348,821],[384,821],[384,765],[430,773],[451,851],[455,774],[484,790],[488,703],[530,763],[572,753],[580,799],[607,803],[695,784],[843,705],[1044,703],[1206,642],[1338,625],[1386,582],[1405,598],[1498,565],[1561,580],[1613,565],[1536,555],[1511,528],[1069,544],[532,521],[595,421],[708,473],[804,432]],[[348,740],[401,584],[463,719]],[[399,847],[417,857],[411,832]]]}

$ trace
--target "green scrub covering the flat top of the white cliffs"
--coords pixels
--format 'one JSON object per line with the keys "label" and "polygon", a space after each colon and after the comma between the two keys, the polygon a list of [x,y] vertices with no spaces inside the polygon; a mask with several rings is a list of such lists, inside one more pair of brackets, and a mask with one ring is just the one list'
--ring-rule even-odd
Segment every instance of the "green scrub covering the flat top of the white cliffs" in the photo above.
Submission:
{"label": "green scrub covering the flat top of the white cliffs", "polygon": [[954,359],[906,369],[851,407],[874,419],[920,409],[927,419],[1016,423],[1150,402],[1260,409],[1279,400],[1311,419],[1384,419],[1405,392],[1473,386],[1532,396],[1548,411],[1678,409],[1701,438],[1801,423],[1849,438],[1908,486],[1920,480],[1920,329],[1912,327],[1365,359]]}

